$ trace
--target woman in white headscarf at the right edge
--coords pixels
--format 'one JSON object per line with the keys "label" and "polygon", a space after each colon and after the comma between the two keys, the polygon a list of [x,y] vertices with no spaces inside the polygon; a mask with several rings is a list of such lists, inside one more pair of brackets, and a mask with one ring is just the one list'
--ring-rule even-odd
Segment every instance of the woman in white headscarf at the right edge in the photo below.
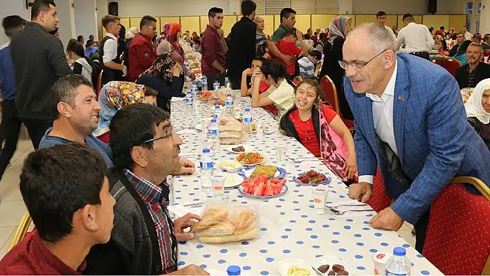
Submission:
{"label": "woman in white headscarf at the right edge", "polygon": [[490,149],[490,79],[479,82],[466,104],[468,122]]}

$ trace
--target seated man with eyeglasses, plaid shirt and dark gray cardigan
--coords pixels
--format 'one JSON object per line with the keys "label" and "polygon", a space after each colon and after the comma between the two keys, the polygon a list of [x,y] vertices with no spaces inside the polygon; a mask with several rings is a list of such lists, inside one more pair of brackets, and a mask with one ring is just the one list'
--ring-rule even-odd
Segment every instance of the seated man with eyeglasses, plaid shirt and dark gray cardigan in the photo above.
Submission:
{"label": "seated man with eyeglasses, plaid shirt and dark gray cardigan", "polygon": [[85,273],[94,275],[206,275],[190,265],[177,269],[177,242],[194,238],[184,233],[200,218],[194,214],[172,222],[162,185],[179,172],[182,140],[172,130],[167,112],[149,104],[131,104],[112,118],[109,142],[114,168],[109,171],[114,228],[109,243],[87,256]]}

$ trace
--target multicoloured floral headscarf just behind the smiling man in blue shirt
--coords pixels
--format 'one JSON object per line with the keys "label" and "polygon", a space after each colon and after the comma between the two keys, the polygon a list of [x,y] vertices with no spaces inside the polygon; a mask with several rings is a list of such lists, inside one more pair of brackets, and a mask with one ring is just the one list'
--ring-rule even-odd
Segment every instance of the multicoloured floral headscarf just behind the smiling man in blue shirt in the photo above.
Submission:
{"label": "multicoloured floral headscarf just behind the smiling man in blue shirt", "polygon": [[112,117],[119,109],[136,104],[145,97],[145,86],[134,82],[108,82],[99,93],[100,122],[93,136],[109,132]]}

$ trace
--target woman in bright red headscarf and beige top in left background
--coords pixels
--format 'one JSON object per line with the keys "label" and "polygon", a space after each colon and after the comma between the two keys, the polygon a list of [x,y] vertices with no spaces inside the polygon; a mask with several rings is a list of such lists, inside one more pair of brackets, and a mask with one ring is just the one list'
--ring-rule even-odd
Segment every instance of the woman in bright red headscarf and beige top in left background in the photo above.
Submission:
{"label": "woman in bright red headscarf and beige top in left background", "polygon": [[187,59],[185,58],[183,48],[179,43],[181,28],[181,24],[174,22],[167,23],[165,26],[163,26],[165,31],[165,39],[158,44],[158,47],[156,47],[156,55],[161,55],[164,53],[170,54],[172,58],[183,68],[184,75],[190,77],[191,80],[194,80],[196,76],[192,70],[184,66],[184,62]]}

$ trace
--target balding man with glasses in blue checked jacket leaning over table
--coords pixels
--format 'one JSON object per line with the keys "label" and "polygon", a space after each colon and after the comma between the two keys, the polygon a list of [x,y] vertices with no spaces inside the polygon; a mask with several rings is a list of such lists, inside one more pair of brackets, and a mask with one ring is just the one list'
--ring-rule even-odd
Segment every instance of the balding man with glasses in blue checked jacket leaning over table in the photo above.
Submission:
{"label": "balding man with glasses in blue checked jacket leaning over table", "polygon": [[419,57],[395,55],[385,28],[365,24],[353,30],[343,59],[359,169],[349,196],[370,199],[379,165],[396,200],[370,224],[394,231],[403,221],[414,224],[421,252],[430,204],[455,176],[475,176],[489,185],[490,151],[466,122],[454,77]]}

